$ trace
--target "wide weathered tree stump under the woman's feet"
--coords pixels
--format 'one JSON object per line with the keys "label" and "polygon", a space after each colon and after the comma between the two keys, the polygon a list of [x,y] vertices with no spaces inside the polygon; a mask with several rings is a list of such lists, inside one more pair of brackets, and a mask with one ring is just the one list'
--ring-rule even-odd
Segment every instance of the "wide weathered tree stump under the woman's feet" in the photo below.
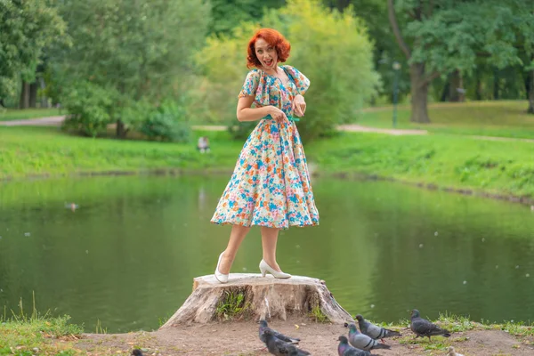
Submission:
{"label": "wide weathered tree stump under the woman's feet", "polygon": [[193,279],[193,293],[161,328],[193,322],[204,324],[222,319],[227,312],[237,319],[287,320],[288,316],[315,315],[334,323],[354,321],[336,302],[323,280],[231,273],[226,284],[219,283],[213,274]]}

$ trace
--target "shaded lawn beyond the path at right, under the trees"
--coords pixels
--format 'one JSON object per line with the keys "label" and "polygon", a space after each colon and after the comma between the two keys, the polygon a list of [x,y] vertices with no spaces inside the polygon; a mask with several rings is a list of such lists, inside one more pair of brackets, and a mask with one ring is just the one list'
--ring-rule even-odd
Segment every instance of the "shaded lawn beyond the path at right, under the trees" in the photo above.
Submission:
{"label": "shaded lawn beyond the path at right, under the trees", "polygon": [[[429,105],[431,124],[409,121],[409,106],[398,109],[398,128],[425,129],[433,134],[463,134],[534,139],[534,115],[528,101],[471,101]],[[355,124],[392,128],[392,107],[365,109]]]}

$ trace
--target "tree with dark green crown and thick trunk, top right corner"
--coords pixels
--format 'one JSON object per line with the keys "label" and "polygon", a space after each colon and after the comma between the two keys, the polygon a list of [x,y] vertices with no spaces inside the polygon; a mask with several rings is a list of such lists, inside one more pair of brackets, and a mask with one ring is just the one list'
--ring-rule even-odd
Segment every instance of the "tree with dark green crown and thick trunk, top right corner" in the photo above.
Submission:
{"label": "tree with dark green crown and thick trunk, top right corner", "polygon": [[531,12],[529,0],[388,0],[387,5],[393,34],[409,61],[413,122],[430,122],[433,79],[455,71],[470,74],[480,57],[497,68],[521,62],[517,29],[530,26],[517,21],[520,13]]}

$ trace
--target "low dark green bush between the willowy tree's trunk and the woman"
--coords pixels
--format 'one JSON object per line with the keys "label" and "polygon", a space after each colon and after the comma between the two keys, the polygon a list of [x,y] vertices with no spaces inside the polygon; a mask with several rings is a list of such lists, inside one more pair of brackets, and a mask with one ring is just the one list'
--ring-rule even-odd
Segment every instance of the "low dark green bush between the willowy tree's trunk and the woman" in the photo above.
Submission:
{"label": "low dark green bush between the willowy tree's trunk and the woman", "polygon": [[151,140],[190,142],[191,127],[182,105],[166,102],[142,122],[142,134]]}

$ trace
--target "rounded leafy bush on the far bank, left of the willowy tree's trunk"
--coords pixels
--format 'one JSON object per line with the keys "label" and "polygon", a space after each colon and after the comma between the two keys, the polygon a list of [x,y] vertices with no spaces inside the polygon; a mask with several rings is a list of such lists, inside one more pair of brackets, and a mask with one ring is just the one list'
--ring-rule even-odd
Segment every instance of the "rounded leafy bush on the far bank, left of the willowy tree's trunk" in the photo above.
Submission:
{"label": "rounded leafy bush on the far bank, left of the willowy tree's trunk", "polygon": [[69,116],[63,123],[64,129],[74,129],[93,137],[106,131],[112,120],[109,113],[113,109],[113,98],[117,96],[113,90],[81,82],[71,86],[66,93],[63,103]]}

